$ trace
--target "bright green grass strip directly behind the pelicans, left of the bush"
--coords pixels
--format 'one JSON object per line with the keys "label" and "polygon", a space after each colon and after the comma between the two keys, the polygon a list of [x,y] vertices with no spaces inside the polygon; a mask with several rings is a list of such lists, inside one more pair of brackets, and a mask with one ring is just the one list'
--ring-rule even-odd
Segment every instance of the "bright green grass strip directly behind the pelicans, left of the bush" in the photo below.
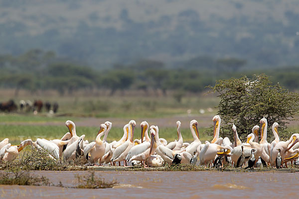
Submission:
{"label": "bright green grass strip directly behind the pelicans, left of the bush", "polygon": [[[85,134],[85,139],[94,141],[99,128],[98,127],[76,127],[77,135]],[[211,137],[204,135],[204,128],[199,128],[199,135],[202,141],[210,140]],[[0,140],[9,138],[11,144],[19,144],[25,139],[37,138],[60,139],[68,129],[66,126],[44,126],[44,125],[0,125]],[[181,129],[184,141],[192,141],[192,135],[189,129]],[[124,134],[123,128],[113,127],[107,137],[108,141],[119,140]],[[134,139],[140,139],[141,128],[137,127],[134,133]],[[176,128],[159,128],[159,137],[166,139],[168,142],[177,139]]]}

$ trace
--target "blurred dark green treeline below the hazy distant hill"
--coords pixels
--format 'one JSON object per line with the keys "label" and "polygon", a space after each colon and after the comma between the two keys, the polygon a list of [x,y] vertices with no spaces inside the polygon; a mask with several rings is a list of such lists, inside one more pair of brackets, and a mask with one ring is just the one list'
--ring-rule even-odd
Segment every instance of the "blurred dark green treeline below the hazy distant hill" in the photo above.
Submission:
{"label": "blurred dark green treeline below the hazy distant hill", "polygon": [[273,83],[296,90],[299,87],[299,67],[264,70],[245,70],[245,60],[198,57],[168,68],[162,62],[140,60],[134,64],[117,64],[111,69],[96,70],[68,59],[57,57],[52,51],[33,49],[20,56],[0,55],[0,87],[31,92],[56,90],[61,95],[80,89],[149,90],[178,93],[202,92],[218,79],[239,78],[242,75],[265,73]]}

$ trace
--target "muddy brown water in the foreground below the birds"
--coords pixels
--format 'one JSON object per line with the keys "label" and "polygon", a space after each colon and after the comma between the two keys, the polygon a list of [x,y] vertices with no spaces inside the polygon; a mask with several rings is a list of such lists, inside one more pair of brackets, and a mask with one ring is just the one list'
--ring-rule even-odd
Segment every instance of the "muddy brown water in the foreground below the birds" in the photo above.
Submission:
{"label": "muddy brown water in the foreground below the birds", "polygon": [[[54,184],[74,186],[75,174],[87,171],[33,171]],[[96,171],[120,185],[109,189],[72,189],[35,186],[0,186],[1,198],[34,199],[143,199],[143,198],[288,198],[299,197],[299,173],[284,172],[117,172]]]}

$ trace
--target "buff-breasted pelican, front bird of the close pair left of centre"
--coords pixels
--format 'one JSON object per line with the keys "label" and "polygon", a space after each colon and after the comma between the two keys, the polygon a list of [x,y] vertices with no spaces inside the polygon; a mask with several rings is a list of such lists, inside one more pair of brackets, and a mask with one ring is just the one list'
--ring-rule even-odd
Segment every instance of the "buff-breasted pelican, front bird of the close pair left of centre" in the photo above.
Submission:
{"label": "buff-breasted pelican, front bird of the close pair left of centre", "polygon": [[[91,142],[84,147],[84,157],[88,160],[89,164],[96,164],[98,161],[101,165],[101,159],[105,154],[105,144],[101,140],[101,137],[106,133],[107,126],[105,124],[100,125],[100,130],[96,137],[95,142]],[[89,157],[90,154],[90,157]]]}

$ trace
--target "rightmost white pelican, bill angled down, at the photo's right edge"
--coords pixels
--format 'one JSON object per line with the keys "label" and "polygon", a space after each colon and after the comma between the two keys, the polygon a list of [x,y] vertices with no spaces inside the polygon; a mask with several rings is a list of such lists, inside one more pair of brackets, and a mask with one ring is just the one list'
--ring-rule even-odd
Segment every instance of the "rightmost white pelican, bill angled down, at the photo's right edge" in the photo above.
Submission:
{"label": "rightmost white pelican, bill angled down, at the photo's right edge", "polygon": [[[271,161],[271,166],[274,167],[275,166],[275,161],[276,161],[276,157],[278,154],[278,150],[281,150],[281,157],[282,160],[285,159],[286,156],[286,152],[289,151],[297,142],[299,141],[299,134],[298,133],[294,133],[291,135],[290,139],[288,141],[280,141],[278,142],[275,147],[273,148],[272,151],[272,161]],[[293,143],[292,143],[293,142]],[[289,146],[290,145],[290,146]]]}

